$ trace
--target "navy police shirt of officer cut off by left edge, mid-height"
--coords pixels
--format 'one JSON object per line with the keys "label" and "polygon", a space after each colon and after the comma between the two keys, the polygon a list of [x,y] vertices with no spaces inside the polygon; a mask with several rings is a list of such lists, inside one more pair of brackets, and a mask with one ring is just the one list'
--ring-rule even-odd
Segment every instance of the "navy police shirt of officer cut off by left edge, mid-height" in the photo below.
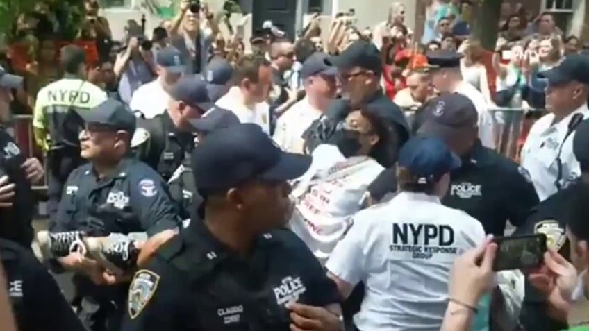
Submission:
{"label": "navy police shirt of officer cut off by left edge, mid-height", "polygon": [[10,239],[30,247],[33,241],[33,214],[35,195],[31,182],[26,178],[22,164],[26,156],[15,143],[6,129],[0,126],[0,177],[8,176],[15,184],[15,196],[12,207],[0,208],[0,237]]}

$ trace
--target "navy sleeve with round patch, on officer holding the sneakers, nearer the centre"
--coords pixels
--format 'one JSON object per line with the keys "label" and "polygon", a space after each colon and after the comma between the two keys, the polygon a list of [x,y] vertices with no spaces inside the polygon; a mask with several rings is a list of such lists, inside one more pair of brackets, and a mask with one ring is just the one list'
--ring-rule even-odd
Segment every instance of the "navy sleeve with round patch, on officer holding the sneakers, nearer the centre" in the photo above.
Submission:
{"label": "navy sleeve with round patch, on officer holding the sneakers, nearer the centre", "polygon": [[142,230],[151,237],[163,230],[180,228],[182,221],[164,180],[147,164],[141,164],[141,167],[142,171],[131,174],[129,200],[138,214]]}

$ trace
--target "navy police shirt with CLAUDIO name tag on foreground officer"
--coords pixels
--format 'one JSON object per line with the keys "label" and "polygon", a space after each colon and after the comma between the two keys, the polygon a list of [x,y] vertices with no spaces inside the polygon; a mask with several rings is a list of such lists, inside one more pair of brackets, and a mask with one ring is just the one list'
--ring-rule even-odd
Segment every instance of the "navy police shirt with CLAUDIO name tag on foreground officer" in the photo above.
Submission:
{"label": "navy police shirt with CLAUDIO name tag on foreground officer", "polygon": [[121,330],[290,330],[291,301],[319,307],[340,301],[299,237],[268,232],[242,257],[192,221],[135,273]]}

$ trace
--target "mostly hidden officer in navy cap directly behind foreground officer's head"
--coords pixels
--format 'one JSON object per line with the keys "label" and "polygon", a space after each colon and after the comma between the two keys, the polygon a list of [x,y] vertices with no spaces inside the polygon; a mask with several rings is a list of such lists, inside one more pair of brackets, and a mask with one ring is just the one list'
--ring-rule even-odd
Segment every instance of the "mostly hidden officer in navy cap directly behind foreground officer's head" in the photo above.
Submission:
{"label": "mostly hidden officer in navy cap directly behind foreground officer's head", "polygon": [[[221,128],[228,128],[240,121],[233,112],[224,110],[222,108],[213,108],[206,112],[203,117],[199,119],[191,119],[190,124],[196,134],[194,144],[202,142],[206,135],[213,133],[215,130]],[[203,199],[197,192],[197,187],[194,183],[194,176],[192,176],[192,166],[190,158],[185,158],[172,174],[172,178],[167,183],[169,194],[174,201],[180,203],[181,216],[183,219],[199,219],[196,214],[196,207],[201,205]]]}

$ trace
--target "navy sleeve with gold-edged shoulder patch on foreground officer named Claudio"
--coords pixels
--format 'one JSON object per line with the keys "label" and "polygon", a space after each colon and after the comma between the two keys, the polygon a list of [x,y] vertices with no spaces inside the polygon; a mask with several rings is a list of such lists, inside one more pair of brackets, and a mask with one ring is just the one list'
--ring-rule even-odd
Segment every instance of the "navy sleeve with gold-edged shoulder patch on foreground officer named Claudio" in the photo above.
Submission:
{"label": "navy sleeve with gold-edged shoulder patch on foreground officer named Claudio", "polygon": [[[189,292],[178,272],[158,257],[135,273],[129,287],[121,331],[188,330]],[[194,329],[190,329],[194,330]]]}

